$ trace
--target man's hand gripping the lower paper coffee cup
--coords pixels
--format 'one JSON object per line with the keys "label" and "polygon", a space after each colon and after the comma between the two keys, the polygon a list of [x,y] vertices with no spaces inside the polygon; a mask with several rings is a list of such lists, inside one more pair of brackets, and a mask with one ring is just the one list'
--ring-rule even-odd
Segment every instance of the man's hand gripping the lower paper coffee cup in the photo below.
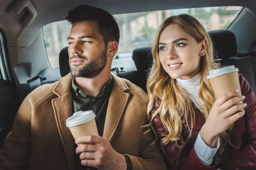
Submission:
{"label": "man's hand gripping the lower paper coffee cup", "polygon": [[81,164],[99,170],[126,170],[125,157],[117,153],[101,136],[82,136],[76,139],[76,153],[80,154]]}

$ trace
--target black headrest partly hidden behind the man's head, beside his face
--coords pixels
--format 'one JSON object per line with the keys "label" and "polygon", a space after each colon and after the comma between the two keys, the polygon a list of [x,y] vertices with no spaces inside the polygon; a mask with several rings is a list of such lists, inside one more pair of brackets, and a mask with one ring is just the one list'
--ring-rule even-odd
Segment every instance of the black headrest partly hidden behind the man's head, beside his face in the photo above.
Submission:
{"label": "black headrest partly hidden behind the man's head, beside his face", "polygon": [[61,77],[64,77],[70,73],[70,67],[69,67],[69,61],[68,61],[69,56],[68,56],[67,48],[68,47],[63,48],[59,55]]}

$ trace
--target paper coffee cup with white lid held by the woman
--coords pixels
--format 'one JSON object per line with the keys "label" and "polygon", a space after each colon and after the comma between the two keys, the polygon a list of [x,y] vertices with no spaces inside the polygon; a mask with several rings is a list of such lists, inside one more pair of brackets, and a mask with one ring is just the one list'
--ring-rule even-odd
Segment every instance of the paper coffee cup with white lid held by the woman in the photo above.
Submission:
{"label": "paper coffee cup with white lid held by the woman", "polygon": [[[218,68],[209,71],[209,75],[207,79],[209,79],[212,90],[216,96],[216,98],[220,98],[223,94],[226,94],[228,91],[234,89],[240,89],[240,82],[238,76],[238,68],[235,68],[234,65]],[[241,91],[237,94],[237,96],[241,96]],[[237,102],[237,104],[242,104],[243,102]],[[241,109],[244,111],[244,109]]]}

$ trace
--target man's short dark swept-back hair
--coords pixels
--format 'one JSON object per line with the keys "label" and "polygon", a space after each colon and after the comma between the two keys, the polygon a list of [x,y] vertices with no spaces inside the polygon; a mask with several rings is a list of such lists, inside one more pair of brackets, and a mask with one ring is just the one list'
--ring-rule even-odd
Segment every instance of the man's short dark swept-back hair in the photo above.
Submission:
{"label": "man's short dark swept-back hair", "polygon": [[116,19],[101,8],[80,5],[68,12],[66,20],[72,25],[81,21],[97,21],[99,34],[103,37],[105,45],[109,41],[116,41],[119,44],[120,31]]}

